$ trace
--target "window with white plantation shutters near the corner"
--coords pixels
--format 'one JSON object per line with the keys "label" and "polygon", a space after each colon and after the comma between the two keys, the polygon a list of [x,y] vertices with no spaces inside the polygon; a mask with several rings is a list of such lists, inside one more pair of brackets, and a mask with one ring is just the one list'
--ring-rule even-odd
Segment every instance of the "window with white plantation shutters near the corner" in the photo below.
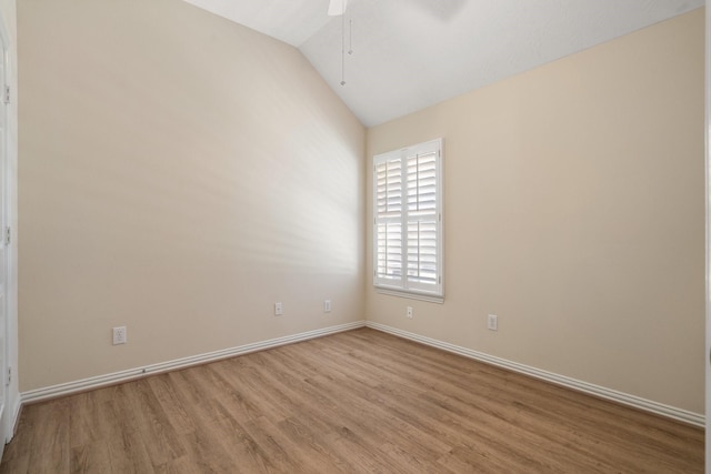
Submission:
{"label": "window with white plantation shutters near the corner", "polygon": [[441,302],[442,140],[374,157],[373,194],[373,284]]}

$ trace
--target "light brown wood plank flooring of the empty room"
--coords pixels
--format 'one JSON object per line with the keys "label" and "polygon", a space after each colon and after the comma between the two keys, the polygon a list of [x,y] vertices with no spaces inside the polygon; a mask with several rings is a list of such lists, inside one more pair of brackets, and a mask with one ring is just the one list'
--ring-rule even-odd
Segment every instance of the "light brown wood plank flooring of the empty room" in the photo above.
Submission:
{"label": "light brown wood plank flooring of the empty room", "polygon": [[703,431],[362,329],[26,406],[0,473],[701,473]]}

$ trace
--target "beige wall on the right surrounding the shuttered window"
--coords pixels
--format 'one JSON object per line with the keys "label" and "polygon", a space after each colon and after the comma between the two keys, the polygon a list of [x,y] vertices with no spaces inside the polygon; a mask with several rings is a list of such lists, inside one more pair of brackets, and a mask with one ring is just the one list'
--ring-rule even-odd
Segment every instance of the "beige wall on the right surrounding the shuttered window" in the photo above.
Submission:
{"label": "beige wall on the right surrounding the shuttered window", "polygon": [[695,10],[369,130],[371,161],[444,139],[445,302],[369,278],[368,319],[703,413],[703,38]]}

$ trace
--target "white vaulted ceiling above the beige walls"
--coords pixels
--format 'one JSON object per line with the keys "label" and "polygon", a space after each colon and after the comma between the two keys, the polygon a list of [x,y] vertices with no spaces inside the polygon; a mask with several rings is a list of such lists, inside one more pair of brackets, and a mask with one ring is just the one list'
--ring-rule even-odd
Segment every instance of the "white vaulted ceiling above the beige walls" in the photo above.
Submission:
{"label": "white vaulted ceiling above the beige walls", "polygon": [[[704,0],[186,0],[301,50],[367,127],[703,7]],[[341,85],[341,33],[349,49]]]}

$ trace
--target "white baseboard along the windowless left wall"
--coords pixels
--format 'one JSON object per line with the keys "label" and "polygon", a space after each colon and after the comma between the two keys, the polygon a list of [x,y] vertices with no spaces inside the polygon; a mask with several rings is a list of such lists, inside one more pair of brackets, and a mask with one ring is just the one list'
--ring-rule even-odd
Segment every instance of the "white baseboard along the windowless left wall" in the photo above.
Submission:
{"label": "white baseboard along the windowless left wall", "polygon": [[[300,334],[287,335],[283,337],[270,339],[268,341],[256,342],[251,344],[240,345],[237,347],[223,349],[221,351],[208,352],[204,354],[192,355],[190,357],[176,359],[173,361],[161,362],[158,364],[146,365],[142,367],[129,369],[121,372],[113,372],[110,374],[98,375],[94,377],[82,379],[74,382],[62,383],[59,385],[51,385],[42,389],[30,390],[20,394],[20,403],[28,404],[40,402],[42,400],[56,399],[58,396],[70,395],[72,393],[84,392],[88,390],[99,389],[107,385],[113,385],[117,383],[123,383],[131,380],[140,379],[147,375],[153,375],[162,372],[174,371],[179,369],[186,369],[191,365],[199,365],[209,362],[219,361],[221,359],[234,357],[237,355],[248,354],[250,352],[263,351],[266,349],[278,347],[284,344],[292,344],[294,342],[308,341],[316,337],[321,337],[329,334],[336,334],[343,331],[350,331],[358,327],[363,327],[364,321],[357,321],[354,323],[340,324],[338,326],[330,326],[314,331],[308,331]],[[20,404],[18,404],[17,412],[20,411]]]}

